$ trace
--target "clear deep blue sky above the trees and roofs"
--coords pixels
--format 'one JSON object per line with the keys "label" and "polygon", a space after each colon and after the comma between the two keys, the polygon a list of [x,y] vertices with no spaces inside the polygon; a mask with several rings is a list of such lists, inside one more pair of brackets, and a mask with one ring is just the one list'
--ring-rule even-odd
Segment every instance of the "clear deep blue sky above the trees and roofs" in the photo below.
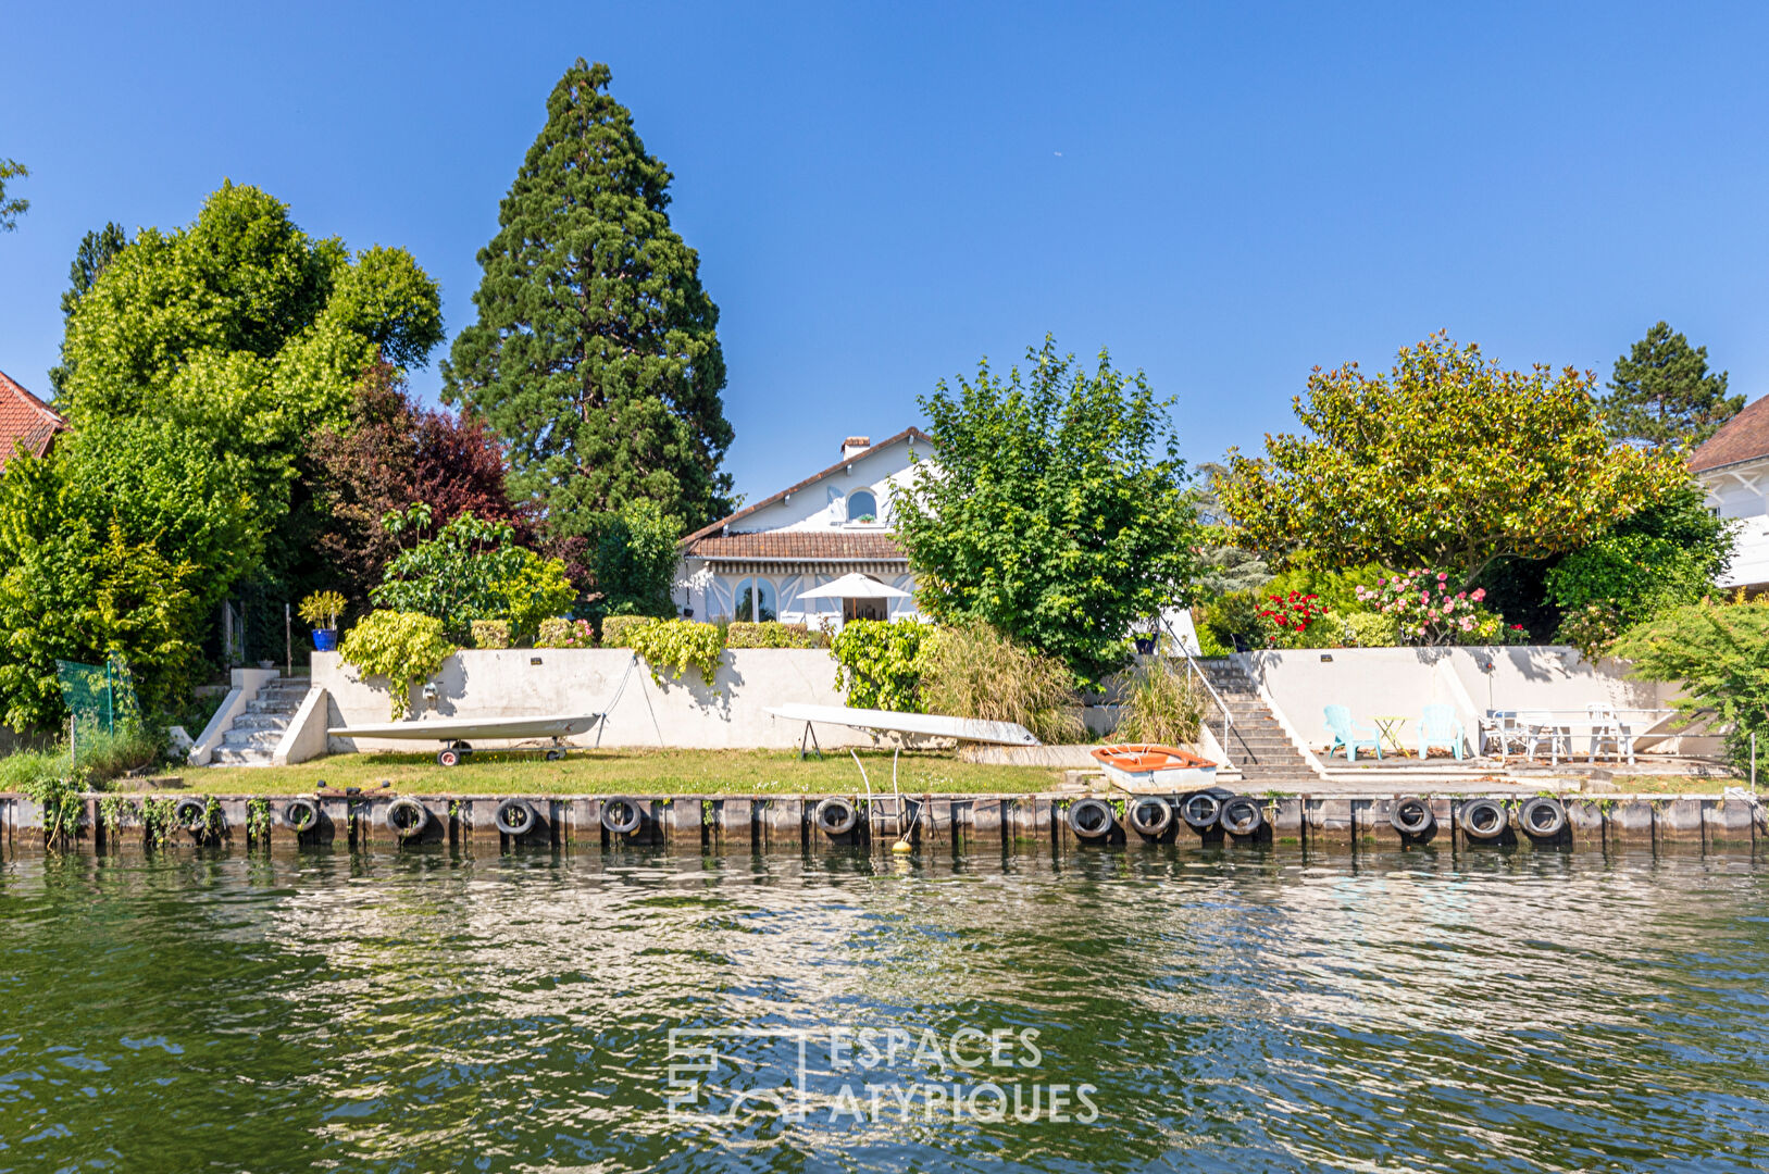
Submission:
{"label": "clear deep blue sky above the trees and roofs", "polygon": [[1606,377],[1666,318],[1769,380],[1760,4],[21,4],[0,42],[0,370],[42,394],[81,233],[223,177],[410,249],[453,338],[578,55],[676,173],[752,500],[1047,331],[1192,460],[1438,329]]}

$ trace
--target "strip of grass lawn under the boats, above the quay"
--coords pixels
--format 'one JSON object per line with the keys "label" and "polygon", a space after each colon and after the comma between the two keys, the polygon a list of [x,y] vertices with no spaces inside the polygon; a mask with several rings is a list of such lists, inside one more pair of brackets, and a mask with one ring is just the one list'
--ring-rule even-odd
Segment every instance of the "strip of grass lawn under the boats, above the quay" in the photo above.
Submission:
{"label": "strip of grass lawn under the boats, above the quay", "polygon": [[[890,751],[863,750],[874,792],[890,792]],[[456,767],[432,755],[333,755],[285,767],[184,767],[175,771],[188,790],[205,794],[302,794],[327,787],[379,787],[407,794],[816,794],[863,792],[847,751],[800,762],[793,750],[582,750],[563,762],[495,755]],[[897,785],[929,792],[1051,790],[1061,771],[1021,766],[980,766],[950,753],[904,753]]]}

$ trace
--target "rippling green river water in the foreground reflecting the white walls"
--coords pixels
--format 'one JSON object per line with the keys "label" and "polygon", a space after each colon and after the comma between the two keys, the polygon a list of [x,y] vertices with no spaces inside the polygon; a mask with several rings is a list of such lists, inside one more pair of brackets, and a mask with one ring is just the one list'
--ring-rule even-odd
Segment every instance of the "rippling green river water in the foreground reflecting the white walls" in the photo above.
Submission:
{"label": "rippling green river water in the foreground reflecting the white walls", "polygon": [[0,1170],[1765,1170],[1750,856],[19,856]]}

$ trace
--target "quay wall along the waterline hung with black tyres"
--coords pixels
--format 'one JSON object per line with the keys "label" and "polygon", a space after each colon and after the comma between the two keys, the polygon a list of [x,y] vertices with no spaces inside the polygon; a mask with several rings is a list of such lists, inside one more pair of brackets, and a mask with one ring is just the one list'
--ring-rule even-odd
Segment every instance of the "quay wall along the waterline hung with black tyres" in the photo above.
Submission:
{"label": "quay wall along the waterline hung with black tyres", "polygon": [[[1228,792],[1212,792],[1226,797]],[[1194,831],[1175,812],[1159,836],[1130,829],[1125,803],[1146,796],[1081,792],[1061,794],[966,794],[966,796],[837,796],[853,804],[856,824],[828,835],[817,820],[826,796],[407,796],[426,817],[417,835],[402,838],[389,822],[389,806],[400,796],[310,796],[318,819],[297,829],[299,813],[290,796],[253,799],[218,797],[207,829],[179,829],[170,845],[334,845],[350,849],[407,843],[479,845],[494,850],[517,845],[554,845],[580,850],[665,847],[672,850],[801,852],[831,845],[862,845],[888,852],[899,836],[916,850],[1026,850],[1026,849],[1123,849],[1157,845],[1203,845],[1224,849],[1300,847],[1320,850],[1433,849],[1482,852],[1504,849],[1686,849],[1711,852],[1769,850],[1769,808],[1737,796],[1564,796],[1566,826],[1548,838],[1534,836],[1520,819],[1523,803],[1535,796],[1491,794],[1505,810],[1504,831],[1491,838],[1470,835],[1463,810],[1482,796],[1426,797],[1433,820],[1417,835],[1396,831],[1390,815],[1399,796],[1288,796],[1258,797],[1261,827],[1249,836],[1226,835],[1221,827]],[[1100,799],[1114,808],[1111,831],[1084,840],[1068,822],[1083,799]],[[1183,796],[1180,796],[1183,797]],[[518,799],[534,824],[524,835],[499,831],[499,808]],[[1168,797],[1178,799],[1178,797]],[[172,804],[156,797],[149,803]],[[195,796],[196,804],[207,801]],[[106,808],[108,803],[108,808]],[[150,833],[142,820],[140,799],[88,796],[71,843],[64,847],[108,850],[145,845]],[[640,819],[632,831],[610,831],[603,812],[610,803],[628,803]],[[900,804],[900,806],[899,806]],[[163,813],[165,808],[163,806]],[[165,826],[165,819],[159,820]],[[522,822],[522,820],[517,820]],[[614,820],[616,824],[626,820]],[[42,812],[23,796],[0,796],[0,850],[42,850]]]}

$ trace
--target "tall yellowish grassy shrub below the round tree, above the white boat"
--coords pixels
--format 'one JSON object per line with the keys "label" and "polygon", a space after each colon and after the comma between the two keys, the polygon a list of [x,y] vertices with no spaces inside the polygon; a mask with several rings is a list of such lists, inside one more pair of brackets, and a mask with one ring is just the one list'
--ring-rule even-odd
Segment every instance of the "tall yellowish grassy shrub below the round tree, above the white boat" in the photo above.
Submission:
{"label": "tall yellowish grassy shrub below the round tree, above the white boat", "polygon": [[929,713],[1017,721],[1040,743],[1086,737],[1068,665],[982,622],[936,631],[922,663],[920,697]]}

